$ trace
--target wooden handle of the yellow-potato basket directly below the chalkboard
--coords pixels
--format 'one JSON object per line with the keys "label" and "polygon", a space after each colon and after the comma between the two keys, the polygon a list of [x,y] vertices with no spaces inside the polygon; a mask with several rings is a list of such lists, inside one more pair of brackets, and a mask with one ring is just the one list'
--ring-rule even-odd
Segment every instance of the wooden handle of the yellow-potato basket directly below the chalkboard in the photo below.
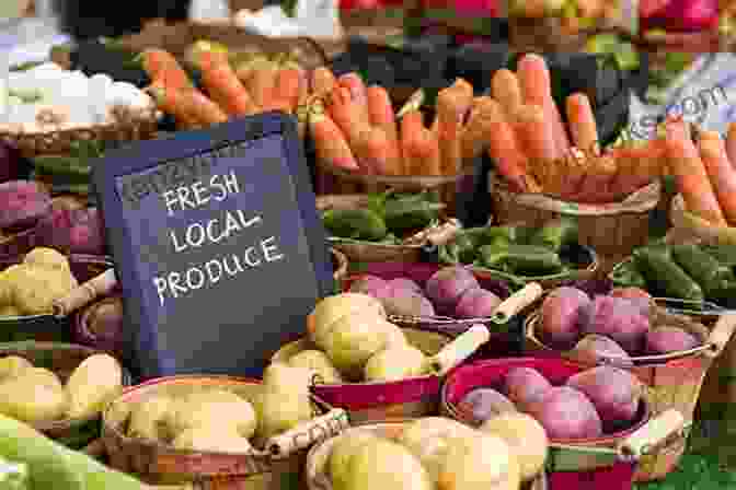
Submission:
{"label": "wooden handle of the yellow-potato basket directly below the chalkboard", "polygon": [[333,408],[329,412],[271,438],[265,445],[268,455],[283,459],[296,451],[307,448],[319,441],[340,434],[350,425],[347,411]]}

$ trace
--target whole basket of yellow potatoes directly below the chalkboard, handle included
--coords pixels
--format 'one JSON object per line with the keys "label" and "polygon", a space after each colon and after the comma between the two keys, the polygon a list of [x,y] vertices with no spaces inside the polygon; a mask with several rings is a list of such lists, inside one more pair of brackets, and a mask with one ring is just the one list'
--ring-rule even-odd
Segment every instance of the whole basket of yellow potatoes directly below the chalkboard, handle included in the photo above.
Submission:
{"label": "whole basket of yellow potatoes directly below the chalkboard, handle included", "polygon": [[180,375],[128,388],[103,415],[108,464],[151,485],[297,488],[307,450],[348,425],[310,394],[312,376],[277,365],[263,382]]}

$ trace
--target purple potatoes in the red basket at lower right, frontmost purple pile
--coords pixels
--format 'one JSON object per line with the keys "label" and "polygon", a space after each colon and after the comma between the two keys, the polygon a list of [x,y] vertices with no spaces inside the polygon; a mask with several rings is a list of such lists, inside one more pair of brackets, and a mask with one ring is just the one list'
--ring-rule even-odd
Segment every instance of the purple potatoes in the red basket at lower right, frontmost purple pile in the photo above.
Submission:
{"label": "purple potatoes in the red basket at lower right, frontmost purple pile", "polygon": [[476,424],[520,411],[533,417],[552,441],[601,438],[641,419],[643,387],[629,371],[597,366],[555,386],[533,368],[513,368],[497,386],[469,392],[458,404]]}

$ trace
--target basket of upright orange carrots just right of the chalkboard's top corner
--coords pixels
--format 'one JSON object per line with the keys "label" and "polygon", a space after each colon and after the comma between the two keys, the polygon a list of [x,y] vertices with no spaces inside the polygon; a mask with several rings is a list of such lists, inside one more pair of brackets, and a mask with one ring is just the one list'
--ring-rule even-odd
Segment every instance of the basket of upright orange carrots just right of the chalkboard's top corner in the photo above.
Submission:
{"label": "basket of upright orange carrots just right of the chalkboard's top corner", "polygon": [[419,90],[395,114],[387,90],[366,88],[356,73],[335,78],[318,68],[313,82],[308,117],[322,174],[318,194],[438,189],[451,212],[456,186],[480,153],[473,144],[482,144],[481,121],[463,122],[473,104],[470,83],[458,79],[439,91],[433,108]]}

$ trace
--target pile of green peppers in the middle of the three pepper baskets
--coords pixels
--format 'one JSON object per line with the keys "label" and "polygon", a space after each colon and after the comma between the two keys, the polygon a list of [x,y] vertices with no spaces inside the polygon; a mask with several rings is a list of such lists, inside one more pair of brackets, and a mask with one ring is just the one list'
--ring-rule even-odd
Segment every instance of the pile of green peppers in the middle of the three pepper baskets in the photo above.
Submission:
{"label": "pile of green peppers in the middle of the three pepper baskets", "polygon": [[[570,270],[561,253],[577,245],[577,222],[561,219],[542,228],[485,226],[461,230],[441,245],[444,264],[468,264],[515,276],[541,277]],[[574,267],[574,266],[573,266]]]}

